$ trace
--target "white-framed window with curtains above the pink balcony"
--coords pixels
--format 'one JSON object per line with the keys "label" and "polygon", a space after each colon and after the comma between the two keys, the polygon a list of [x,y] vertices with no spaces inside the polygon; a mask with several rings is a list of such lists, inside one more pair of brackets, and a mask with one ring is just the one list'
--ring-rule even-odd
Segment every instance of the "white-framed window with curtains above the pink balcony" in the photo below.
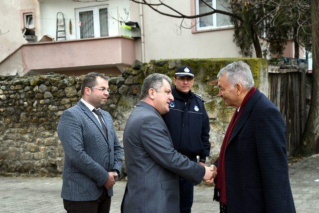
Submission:
{"label": "white-framed window with curtains above the pink balcony", "polygon": [[109,36],[107,6],[76,9],[77,38]]}

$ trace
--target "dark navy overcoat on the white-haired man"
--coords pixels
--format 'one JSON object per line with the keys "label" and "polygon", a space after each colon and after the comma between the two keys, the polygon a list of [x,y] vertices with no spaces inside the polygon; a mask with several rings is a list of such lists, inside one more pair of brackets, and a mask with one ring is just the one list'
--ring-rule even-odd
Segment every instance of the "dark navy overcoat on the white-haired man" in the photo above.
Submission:
{"label": "dark navy overcoat on the white-haired man", "polygon": [[257,89],[238,118],[225,151],[229,213],[296,212],[285,135],[281,113]]}

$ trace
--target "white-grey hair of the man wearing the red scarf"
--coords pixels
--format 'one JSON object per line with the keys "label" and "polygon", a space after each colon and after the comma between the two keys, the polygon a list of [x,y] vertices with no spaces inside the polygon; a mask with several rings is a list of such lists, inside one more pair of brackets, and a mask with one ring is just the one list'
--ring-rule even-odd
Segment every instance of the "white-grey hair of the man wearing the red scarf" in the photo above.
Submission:
{"label": "white-grey hair of the man wearing the red scarf", "polygon": [[254,86],[254,78],[250,71],[250,67],[244,61],[234,61],[228,64],[217,74],[217,78],[226,74],[227,80],[232,86],[240,83],[245,89],[251,89]]}

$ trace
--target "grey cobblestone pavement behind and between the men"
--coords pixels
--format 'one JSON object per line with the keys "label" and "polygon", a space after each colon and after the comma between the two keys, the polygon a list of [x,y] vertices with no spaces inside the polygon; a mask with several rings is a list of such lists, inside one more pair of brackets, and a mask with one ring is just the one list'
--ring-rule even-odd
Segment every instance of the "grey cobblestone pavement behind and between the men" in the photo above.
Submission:
{"label": "grey cobblestone pavement behind and between the men", "polygon": [[[297,213],[319,213],[319,155],[303,159],[289,168]],[[1,213],[64,213],[60,198],[61,178],[9,178],[0,176]],[[111,213],[119,213],[126,182],[114,186]],[[197,186],[193,213],[216,213],[213,188]]]}

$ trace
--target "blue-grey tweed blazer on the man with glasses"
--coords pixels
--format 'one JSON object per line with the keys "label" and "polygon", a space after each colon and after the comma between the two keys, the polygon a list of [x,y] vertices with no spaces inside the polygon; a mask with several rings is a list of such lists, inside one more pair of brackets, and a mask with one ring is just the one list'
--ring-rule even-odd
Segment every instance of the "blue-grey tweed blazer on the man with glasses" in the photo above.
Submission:
{"label": "blue-grey tweed blazer on the man with glasses", "polygon": [[[103,192],[108,172],[121,172],[122,148],[111,115],[101,110],[108,138],[93,113],[82,101],[65,110],[58,124],[64,149],[61,198],[68,201],[94,201]],[[113,190],[108,190],[113,196]]]}

